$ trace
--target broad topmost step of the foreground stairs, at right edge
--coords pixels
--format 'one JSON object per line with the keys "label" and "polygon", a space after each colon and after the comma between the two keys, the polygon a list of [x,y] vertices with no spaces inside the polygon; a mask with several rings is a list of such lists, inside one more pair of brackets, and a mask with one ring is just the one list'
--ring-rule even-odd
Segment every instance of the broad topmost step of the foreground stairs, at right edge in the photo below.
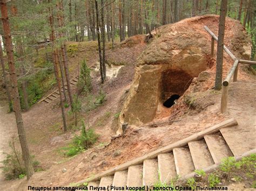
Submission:
{"label": "broad topmost step of the foreground stairs, at right edge", "polygon": [[[220,132],[234,156],[250,151],[256,146],[255,130],[253,128],[239,125],[220,129]],[[246,137],[246,141],[244,137]]]}

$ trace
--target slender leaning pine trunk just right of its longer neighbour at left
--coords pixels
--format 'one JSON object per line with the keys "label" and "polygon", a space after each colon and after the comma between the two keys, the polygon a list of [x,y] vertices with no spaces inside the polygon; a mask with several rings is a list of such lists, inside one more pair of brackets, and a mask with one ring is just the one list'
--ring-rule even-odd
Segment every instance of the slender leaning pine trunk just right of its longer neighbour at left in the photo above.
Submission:
{"label": "slender leaning pine trunk just right of its longer neighbour at left", "polygon": [[[62,0],[57,2],[57,8],[59,10],[58,13],[58,24],[59,27],[64,27],[64,19],[63,19],[63,3]],[[64,37],[64,33],[60,32],[60,37]],[[72,98],[72,92],[71,92],[71,87],[70,87],[70,77],[69,77],[69,67],[68,67],[68,60],[66,58],[66,45],[65,42],[63,42],[60,45],[61,52],[62,52],[62,62],[65,70],[65,76],[66,76],[66,85],[68,87],[68,93],[69,93],[69,100],[71,107],[73,108],[73,98]]]}

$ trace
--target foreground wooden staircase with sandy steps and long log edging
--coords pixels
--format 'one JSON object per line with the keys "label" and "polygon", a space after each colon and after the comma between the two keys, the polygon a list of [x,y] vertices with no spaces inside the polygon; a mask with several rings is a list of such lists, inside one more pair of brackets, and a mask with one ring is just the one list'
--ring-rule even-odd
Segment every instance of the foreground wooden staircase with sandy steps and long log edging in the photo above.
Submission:
{"label": "foreground wooden staircase with sandy steps and long log edging", "polygon": [[[179,142],[167,145],[142,157],[126,162],[78,183],[88,186],[152,186],[157,182],[170,183],[177,175],[194,175],[196,169],[217,167],[225,157],[237,157],[229,143],[237,121],[228,119]],[[224,128],[224,129],[223,129]],[[251,148],[251,152],[255,152]],[[254,149],[254,150],[253,150]]]}

